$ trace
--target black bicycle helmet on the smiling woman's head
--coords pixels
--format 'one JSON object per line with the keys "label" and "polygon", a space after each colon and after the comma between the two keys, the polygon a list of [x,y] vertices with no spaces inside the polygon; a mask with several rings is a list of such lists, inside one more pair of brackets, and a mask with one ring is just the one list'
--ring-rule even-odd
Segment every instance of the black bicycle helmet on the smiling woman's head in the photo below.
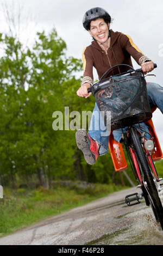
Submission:
{"label": "black bicycle helmet on the smiling woman's head", "polygon": [[108,21],[111,22],[111,17],[107,13],[107,11],[100,7],[96,7],[86,11],[86,13],[84,14],[83,27],[87,30],[87,25],[89,24],[89,22],[96,20],[98,18],[107,18]]}

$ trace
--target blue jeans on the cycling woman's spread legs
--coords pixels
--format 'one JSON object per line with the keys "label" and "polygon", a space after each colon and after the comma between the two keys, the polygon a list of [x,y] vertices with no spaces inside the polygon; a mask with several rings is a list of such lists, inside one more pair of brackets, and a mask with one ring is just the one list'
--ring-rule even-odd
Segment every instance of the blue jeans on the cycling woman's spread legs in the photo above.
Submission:
{"label": "blue jeans on the cycling woman's spread legs", "polygon": [[[163,87],[156,83],[148,83],[147,84],[147,93],[148,93],[148,100],[152,106],[157,106],[163,114]],[[142,130],[149,132],[148,126],[145,123],[136,124],[137,128],[139,129],[140,126]],[[123,131],[126,131],[128,127],[123,128]],[[109,145],[109,131],[106,130],[104,125],[103,118],[99,112],[99,108],[95,103],[95,108],[93,109],[90,129],[89,129],[89,136],[92,139],[95,139],[100,145],[99,155],[104,155],[108,153],[108,145]],[[113,132],[114,139],[117,142],[121,141],[122,138],[122,129],[114,130]],[[149,139],[151,136],[148,133],[145,133],[146,139]]]}

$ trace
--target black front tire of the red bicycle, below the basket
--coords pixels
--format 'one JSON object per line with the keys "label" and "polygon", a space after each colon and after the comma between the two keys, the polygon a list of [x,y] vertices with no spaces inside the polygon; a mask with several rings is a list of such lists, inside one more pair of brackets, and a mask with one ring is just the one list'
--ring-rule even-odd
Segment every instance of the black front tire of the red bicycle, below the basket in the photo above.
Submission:
{"label": "black front tire of the red bicycle, below the basket", "polygon": [[163,230],[163,207],[154,182],[154,176],[151,173],[151,168],[148,166],[145,153],[142,148],[142,144],[139,139],[139,135],[134,127],[130,128],[131,141],[139,159],[139,163],[142,169],[142,180],[143,186],[146,190],[146,195],[148,194],[148,200],[151,204],[154,216],[157,222],[160,222],[161,228]]}

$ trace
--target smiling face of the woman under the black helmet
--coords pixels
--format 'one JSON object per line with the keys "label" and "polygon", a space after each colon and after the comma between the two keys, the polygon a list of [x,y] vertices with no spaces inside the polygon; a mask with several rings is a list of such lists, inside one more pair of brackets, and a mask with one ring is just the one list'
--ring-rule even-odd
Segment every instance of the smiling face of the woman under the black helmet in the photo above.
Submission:
{"label": "smiling face of the woman under the black helmet", "polygon": [[105,23],[104,19],[99,18],[95,21],[91,21],[89,33],[96,39],[100,44],[108,40],[110,23]]}

